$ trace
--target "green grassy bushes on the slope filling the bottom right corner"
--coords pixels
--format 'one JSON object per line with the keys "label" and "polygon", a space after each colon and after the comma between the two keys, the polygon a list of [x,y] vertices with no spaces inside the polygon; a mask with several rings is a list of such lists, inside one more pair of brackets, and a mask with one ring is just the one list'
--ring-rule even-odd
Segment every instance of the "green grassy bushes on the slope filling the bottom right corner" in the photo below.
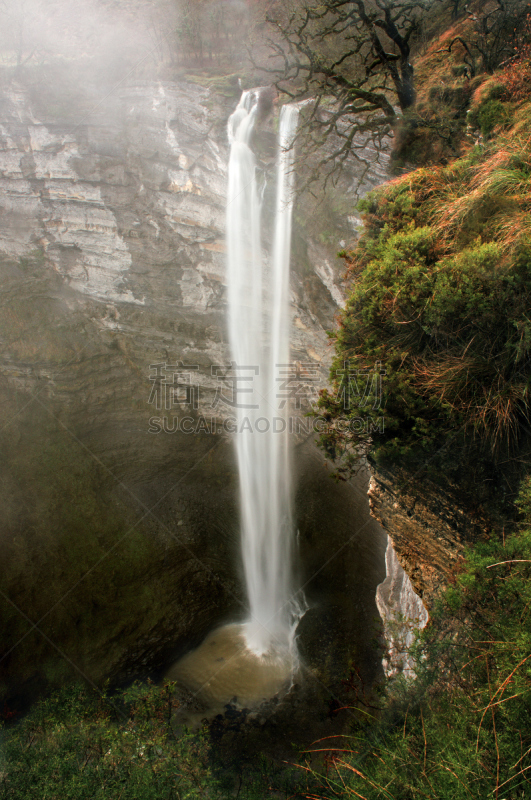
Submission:
{"label": "green grassy bushes on the slope filling the bottom right corner", "polygon": [[[527,513],[530,497],[527,479]],[[379,718],[330,750],[313,798],[530,796],[530,522],[467,554],[419,637],[416,680],[392,685]]]}

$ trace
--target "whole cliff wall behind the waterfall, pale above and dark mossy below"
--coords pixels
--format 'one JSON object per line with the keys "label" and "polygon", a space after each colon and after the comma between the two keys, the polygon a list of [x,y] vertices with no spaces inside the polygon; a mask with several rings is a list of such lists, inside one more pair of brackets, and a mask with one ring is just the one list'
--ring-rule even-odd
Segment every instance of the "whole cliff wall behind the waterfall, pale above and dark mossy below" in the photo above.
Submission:
{"label": "whole cliff wall behind the waterfall, pale above and dark mossy below", "polygon": [[[232,444],[197,429],[231,412],[212,368],[229,362],[236,101],[184,81],[138,83],[77,116],[22,85],[1,98],[0,668],[12,696],[162,669],[241,614]],[[343,297],[339,242],[319,234],[295,231],[292,279],[293,359],[312,367],[313,392]],[[326,558],[319,530],[312,562]],[[375,610],[374,595],[363,603]]]}

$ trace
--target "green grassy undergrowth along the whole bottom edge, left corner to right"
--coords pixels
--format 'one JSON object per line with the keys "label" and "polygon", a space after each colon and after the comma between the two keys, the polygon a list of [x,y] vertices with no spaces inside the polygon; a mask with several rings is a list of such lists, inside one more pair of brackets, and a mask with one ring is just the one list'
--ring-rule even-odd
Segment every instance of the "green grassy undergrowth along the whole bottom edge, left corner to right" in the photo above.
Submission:
{"label": "green grassy undergrowth along the whole bottom edge, left corner to right", "polygon": [[[415,680],[382,688],[350,730],[283,772],[257,753],[243,773],[208,727],[179,728],[174,685],[101,694],[72,685],[2,731],[6,800],[523,800],[531,790],[531,479],[511,536],[466,553],[413,647]],[[264,729],[264,736],[271,735]],[[233,749],[238,739],[233,738]]]}

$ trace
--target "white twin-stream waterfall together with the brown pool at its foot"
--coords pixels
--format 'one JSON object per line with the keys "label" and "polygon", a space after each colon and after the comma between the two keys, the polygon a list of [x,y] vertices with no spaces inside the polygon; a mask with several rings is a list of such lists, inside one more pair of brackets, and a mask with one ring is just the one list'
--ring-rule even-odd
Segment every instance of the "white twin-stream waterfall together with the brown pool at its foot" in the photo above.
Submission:
{"label": "white twin-stream waterfall together with the brown pool at its foot", "polygon": [[250,140],[258,92],[244,92],[228,130],[229,338],[236,381],[242,559],[249,615],[224,625],[168,672],[211,708],[250,708],[287,688],[296,670],[295,628],[306,610],[292,579],[293,520],[287,409],[277,400],[289,365],[289,258],[293,137],[298,109],[280,116],[271,265],[260,239],[261,197]]}

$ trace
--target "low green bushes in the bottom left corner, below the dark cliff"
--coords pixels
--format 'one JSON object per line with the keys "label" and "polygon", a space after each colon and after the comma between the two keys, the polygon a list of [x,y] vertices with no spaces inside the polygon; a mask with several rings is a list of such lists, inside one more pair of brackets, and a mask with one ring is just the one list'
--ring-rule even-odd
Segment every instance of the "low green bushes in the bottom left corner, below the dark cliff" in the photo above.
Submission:
{"label": "low green bushes in the bottom left corner, below the dark cliff", "polygon": [[172,728],[172,686],[134,684],[113,698],[69,686],[4,732],[9,800],[202,797],[213,785],[204,734]]}

